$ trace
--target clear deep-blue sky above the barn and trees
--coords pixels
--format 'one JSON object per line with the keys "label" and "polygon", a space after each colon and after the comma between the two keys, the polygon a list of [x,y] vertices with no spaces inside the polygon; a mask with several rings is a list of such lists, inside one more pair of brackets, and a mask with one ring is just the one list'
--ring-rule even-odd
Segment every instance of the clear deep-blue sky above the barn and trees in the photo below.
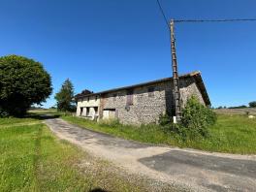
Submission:
{"label": "clear deep-blue sky above the barn and trees", "polygon": [[[255,0],[160,0],[168,18],[256,18]],[[176,23],[179,74],[201,71],[213,107],[256,100],[256,22]],[[0,0],[0,56],[41,62],[54,94],[64,80],[94,92],[172,76],[156,0]]]}

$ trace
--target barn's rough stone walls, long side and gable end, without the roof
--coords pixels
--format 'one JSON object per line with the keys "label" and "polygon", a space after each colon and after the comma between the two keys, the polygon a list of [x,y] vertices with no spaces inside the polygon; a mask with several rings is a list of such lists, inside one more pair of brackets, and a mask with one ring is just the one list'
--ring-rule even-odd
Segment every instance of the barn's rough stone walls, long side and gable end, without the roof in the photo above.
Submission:
{"label": "barn's rough stone walls, long side and gable end, without the roof", "polygon": [[[179,80],[181,105],[185,105],[192,95],[204,103],[200,90],[192,77]],[[148,93],[148,88],[154,87],[154,91]],[[165,81],[135,87],[133,89],[133,105],[127,106],[127,92],[120,90],[105,94],[101,98],[101,117],[103,110],[115,109],[116,117],[124,124],[157,123],[159,115],[164,112],[174,112],[173,81]]]}

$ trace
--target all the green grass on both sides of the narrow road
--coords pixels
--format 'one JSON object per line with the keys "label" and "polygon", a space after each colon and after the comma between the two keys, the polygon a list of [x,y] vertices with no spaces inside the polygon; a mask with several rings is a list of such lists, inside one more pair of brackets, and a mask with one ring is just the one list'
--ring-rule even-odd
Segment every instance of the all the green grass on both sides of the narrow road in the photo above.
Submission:
{"label": "all the green grass on both sides of the narrow road", "polygon": [[[209,129],[210,137],[197,141],[182,141],[158,125],[135,127],[61,117],[81,127],[143,143],[256,154],[256,119],[245,115],[218,114],[217,123]],[[0,118],[0,153],[0,191],[144,191],[136,177],[119,175],[112,171],[111,163],[57,139],[37,114]]]}

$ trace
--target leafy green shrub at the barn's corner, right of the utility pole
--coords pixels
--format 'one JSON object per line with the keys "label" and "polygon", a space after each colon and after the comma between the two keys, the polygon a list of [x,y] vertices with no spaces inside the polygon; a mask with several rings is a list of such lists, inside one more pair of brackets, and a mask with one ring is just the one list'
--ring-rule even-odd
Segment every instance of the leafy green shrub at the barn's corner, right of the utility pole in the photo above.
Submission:
{"label": "leafy green shrub at the barn's corner, right of the utility pole", "polygon": [[216,113],[202,105],[198,98],[188,99],[182,110],[181,125],[193,135],[208,136],[208,127],[216,122]]}

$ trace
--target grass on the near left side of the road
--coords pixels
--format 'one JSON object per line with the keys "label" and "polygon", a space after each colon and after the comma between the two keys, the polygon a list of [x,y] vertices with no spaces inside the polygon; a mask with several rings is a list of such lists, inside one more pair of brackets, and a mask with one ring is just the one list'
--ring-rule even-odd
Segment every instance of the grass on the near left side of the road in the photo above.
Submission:
{"label": "grass on the near left side of the road", "polygon": [[0,118],[0,153],[0,191],[141,191],[37,118]]}

